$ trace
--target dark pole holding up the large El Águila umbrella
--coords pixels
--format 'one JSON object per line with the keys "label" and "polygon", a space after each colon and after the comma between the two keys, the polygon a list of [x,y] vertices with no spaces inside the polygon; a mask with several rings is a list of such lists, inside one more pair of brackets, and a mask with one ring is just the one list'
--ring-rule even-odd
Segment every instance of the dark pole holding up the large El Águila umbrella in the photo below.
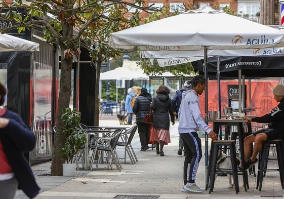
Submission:
{"label": "dark pole holding up the large El \u00c1guila umbrella", "polygon": [[[208,124],[208,57],[207,57],[207,46],[204,47],[204,63],[205,63],[205,79],[206,79],[206,87],[205,87],[205,122]],[[205,133],[205,179],[207,179],[208,175],[208,135]],[[206,186],[205,180],[205,186]]]}

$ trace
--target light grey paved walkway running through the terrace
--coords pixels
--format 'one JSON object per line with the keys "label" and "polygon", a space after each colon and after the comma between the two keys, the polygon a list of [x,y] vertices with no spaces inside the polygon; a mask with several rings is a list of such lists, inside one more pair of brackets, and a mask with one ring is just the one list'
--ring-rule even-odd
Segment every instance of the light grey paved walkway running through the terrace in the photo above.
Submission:
{"label": "light grey paved walkway running through the terrace", "polygon": [[[135,121],[135,120],[134,120]],[[118,126],[115,116],[102,116],[101,126]],[[280,185],[279,173],[268,172],[264,178],[262,191],[256,190],[256,177],[249,175],[250,189],[245,192],[242,187],[242,178],[239,176],[240,192],[228,188],[227,177],[217,177],[214,192],[183,193],[180,191],[183,185],[183,161],[184,156],[178,155],[178,122],[171,126],[171,143],[164,147],[165,156],[159,156],[151,148],[145,152],[140,151],[138,132],[133,139],[133,147],[139,162],[132,165],[129,158],[128,164],[121,159],[123,169],[121,172],[115,169],[107,170],[106,165],[95,164],[92,171],[82,168],[76,172],[75,177],[49,176],[51,163],[44,163],[32,167],[36,180],[42,188],[36,199],[47,198],[143,198],[143,199],[186,199],[186,198],[273,198],[283,197],[284,191]],[[205,152],[205,139],[202,138],[202,152]],[[149,145],[150,146],[150,145]],[[119,157],[124,157],[124,148],[117,148]],[[205,187],[204,156],[199,164],[196,175],[196,184]],[[277,162],[272,165],[278,167]],[[124,196],[128,195],[128,196]],[[16,198],[27,198],[22,191],[17,191]]]}

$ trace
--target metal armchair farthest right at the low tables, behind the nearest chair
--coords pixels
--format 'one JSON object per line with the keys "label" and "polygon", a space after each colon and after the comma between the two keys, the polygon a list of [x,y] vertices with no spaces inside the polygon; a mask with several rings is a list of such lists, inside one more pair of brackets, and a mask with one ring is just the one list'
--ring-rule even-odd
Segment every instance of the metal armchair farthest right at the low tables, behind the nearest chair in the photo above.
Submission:
{"label": "metal armchair farthest right at the low tables, behind the nearest chair", "polygon": [[128,153],[130,161],[132,164],[138,162],[137,156],[133,150],[133,147],[131,145],[132,139],[135,135],[135,132],[137,130],[138,126],[135,125],[128,129],[127,131],[124,131],[121,133],[120,138],[122,141],[117,142],[117,146],[124,146],[125,151],[124,151],[124,163],[126,163],[126,153]]}

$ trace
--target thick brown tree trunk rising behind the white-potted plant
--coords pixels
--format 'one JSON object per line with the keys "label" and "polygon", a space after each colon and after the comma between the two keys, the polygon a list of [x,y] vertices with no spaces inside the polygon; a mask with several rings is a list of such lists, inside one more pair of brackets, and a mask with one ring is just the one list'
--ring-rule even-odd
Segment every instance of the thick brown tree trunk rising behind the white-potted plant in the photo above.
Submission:
{"label": "thick brown tree trunk rising behind the white-potted plant", "polygon": [[66,136],[63,134],[62,127],[62,110],[69,107],[71,97],[71,70],[72,59],[61,60],[61,76],[60,76],[60,90],[58,98],[58,111],[57,111],[57,125],[53,145],[51,175],[62,176],[62,164],[65,163],[64,158],[61,156],[61,148],[63,148]]}

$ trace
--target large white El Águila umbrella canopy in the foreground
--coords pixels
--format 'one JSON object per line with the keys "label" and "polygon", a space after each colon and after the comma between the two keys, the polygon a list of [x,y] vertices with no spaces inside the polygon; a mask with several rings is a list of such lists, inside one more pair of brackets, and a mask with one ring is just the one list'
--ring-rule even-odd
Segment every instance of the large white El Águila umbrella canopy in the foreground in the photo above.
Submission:
{"label": "large white El \u00c1guila umbrella canopy in the foreground", "polygon": [[280,30],[205,6],[111,33],[109,45],[157,51],[248,49],[273,47],[282,37]]}

